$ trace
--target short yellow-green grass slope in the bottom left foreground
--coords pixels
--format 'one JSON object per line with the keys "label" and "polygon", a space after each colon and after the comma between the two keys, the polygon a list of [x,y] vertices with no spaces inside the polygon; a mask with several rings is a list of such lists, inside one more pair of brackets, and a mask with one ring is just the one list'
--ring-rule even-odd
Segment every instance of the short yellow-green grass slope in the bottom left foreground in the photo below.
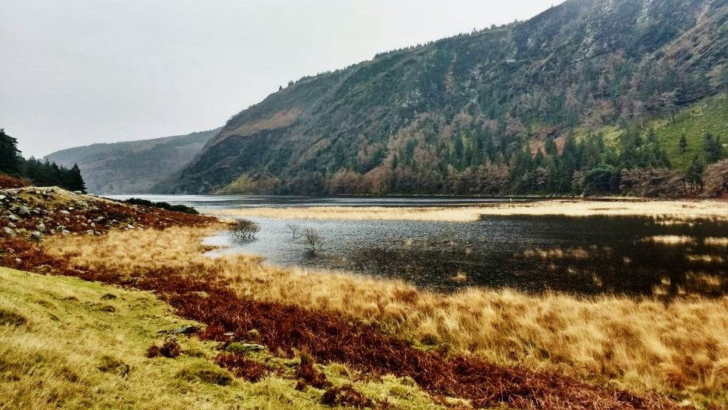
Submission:
{"label": "short yellow-green grass slope in the bottom left foreground", "polygon": [[[296,360],[253,383],[213,364],[218,344],[194,336],[178,336],[175,359],[147,357],[169,330],[199,325],[148,292],[0,268],[0,317],[12,319],[0,321],[0,409],[330,409],[322,390],[296,390]],[[442,408],[404,379],[358,380],[344,365],[326,374],[402,409]]]}

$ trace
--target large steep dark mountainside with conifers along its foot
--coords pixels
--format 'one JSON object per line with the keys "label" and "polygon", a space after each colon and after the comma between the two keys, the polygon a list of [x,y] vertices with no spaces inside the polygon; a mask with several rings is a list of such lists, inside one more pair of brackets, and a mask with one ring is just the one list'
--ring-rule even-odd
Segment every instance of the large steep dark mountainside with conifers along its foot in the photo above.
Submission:
{"label": "large steep dark mountainside with conifers along its foot", "polygon": [[[618,192],[625,169],[680,168],[646,124],[724,104],[727,55],[728,0],[570,0],[291,82],[157,189]],[[689,160],[721,137],[688,135]]]}

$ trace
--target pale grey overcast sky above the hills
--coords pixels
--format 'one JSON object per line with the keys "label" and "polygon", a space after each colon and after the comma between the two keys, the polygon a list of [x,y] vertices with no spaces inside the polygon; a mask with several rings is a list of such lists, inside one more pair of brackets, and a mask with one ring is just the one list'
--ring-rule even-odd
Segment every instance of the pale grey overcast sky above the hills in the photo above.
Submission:
{"label": "pale grey overcast sky above the hills", "polygon": [[0,127],[26,158],[218,128],[289,80],[560,0],[0,0]]}

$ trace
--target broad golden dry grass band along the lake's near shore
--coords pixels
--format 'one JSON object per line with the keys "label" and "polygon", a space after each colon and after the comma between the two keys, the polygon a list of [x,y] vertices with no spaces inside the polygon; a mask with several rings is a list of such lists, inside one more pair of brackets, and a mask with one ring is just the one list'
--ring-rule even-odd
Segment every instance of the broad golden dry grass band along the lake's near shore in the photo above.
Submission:
{"label": "broad golden dry grass band along the lake's near shore", "polygon": [[[210,228],[54,238],[47,252],[125,274],[193,264],[232,279],[241,295],[331,309],[416,344],[448,346],[496,363],[556,366],[635,392],[728,398],[728,298],[524,295],[469,289],[454,295],[393,280],[278,268],[246,255],[202,255]],[[143,251],[137,251],[143,250]]]}

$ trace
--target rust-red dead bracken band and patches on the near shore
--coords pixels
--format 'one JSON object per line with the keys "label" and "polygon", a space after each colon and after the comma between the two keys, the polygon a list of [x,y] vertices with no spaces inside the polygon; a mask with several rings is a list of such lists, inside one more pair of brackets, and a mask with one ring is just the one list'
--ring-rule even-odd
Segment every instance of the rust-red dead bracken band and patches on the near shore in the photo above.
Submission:
{"label": "rust-red dead bracken band and patches on the near shore", "polygon": [[[90,207],[93,209],[86,209],[85,214],[73,212],[76,211],[75,206],[68,213],[47,214],[48,222],[60,223],[58,219],[63,218],[66,227],[78,227],[72,228],[74,231],[85,231],[80,216],[90,220],[86,215],[116,220],[116,224],[104,225],[106,230],[122,228],[120,220],[158,229],[213,222],[209,217],[126,206],[111,201],[93,201]],[[59,214],[63,216],[59,217]],[[40,244],[20,236],[3,239],[1,248],[4,251],[0,254],[3,266],[27,271],[52,271],[91,281],[153,290],[180,316],[207,325],[199,333],[202,339],[226,343],[245,341],[251,332],[255,332],[256,341],[276,355],[290,358],[297,352],[306,352],[305,357],[310,358],[301,361],[296,378],[312,387],[328,388],[324,400],[333,404],[369,406],[371,401],[351,388],[331,387],[325,376],[314,367],[314,361],[347,363],[355,370],[372,376],[408,376],[435,398],[443,398],[443,402],[448,397],[462,398],[477,407],[505,403],[519,409],[677,408],[661,398],[639,397],[621,390],[598,387],[556,371],[496,365],[473,355],[448,355],[445,349],[435,352],[416,349],[396,336],[381,333],[374,325],[354,322],[339,312],[261,301],[237,293],[232,287],[232,279],[203,263],[134,268],[129,273],[103,264],[93,268],[77,266],[71,258],[49,255]],[[159,348],[159,354],[165,355],[164,350],[165,346]],[[148,353],[156,353],[156,349]],[[265,365],[232,352],[218,355],[215,363],[235,376],[251,381],[269,373]]]}

